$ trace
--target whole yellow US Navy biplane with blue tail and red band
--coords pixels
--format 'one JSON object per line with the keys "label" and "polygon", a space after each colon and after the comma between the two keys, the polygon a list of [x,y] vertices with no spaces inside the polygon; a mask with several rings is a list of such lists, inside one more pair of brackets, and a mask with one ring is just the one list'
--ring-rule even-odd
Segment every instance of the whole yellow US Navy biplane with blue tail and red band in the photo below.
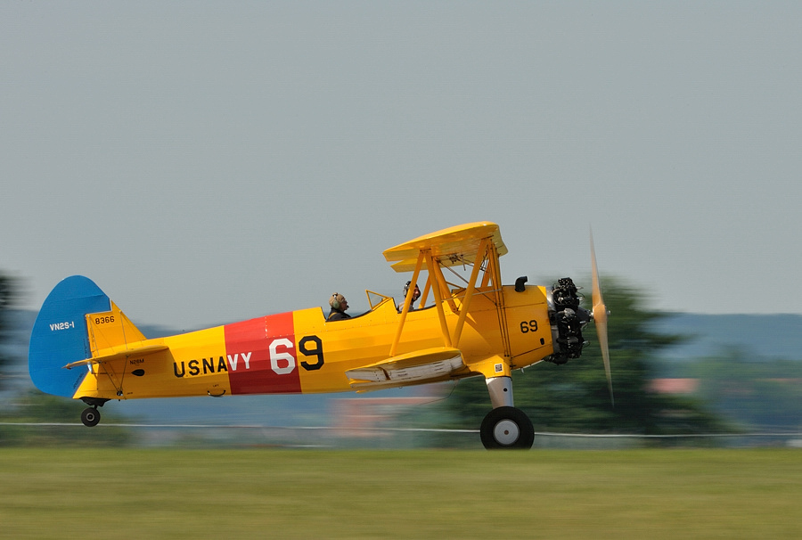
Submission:
{"label": "whole yellow US Navy biplane with blue tail and red band", "polygon": [[370,311],[342,320],[313,307],[151,340],[76,275],[56,285],[37,316],[30,377],[44,392],[84,401],[81,421],[94,426],[111,399],[361,392],[481,376],[493,407],[482,443],[529,448],[534,430],[513,406],[512,370],[577,358],[593,320],[610,385],[593,241],[591,250],[593,312],[579,307],[569,278],[551,288],[526,285],[526,277],[502,285],[507,248],[498,225],[480,222],[384,251],[411,283],[425,279],[399,304],[367,291]]}

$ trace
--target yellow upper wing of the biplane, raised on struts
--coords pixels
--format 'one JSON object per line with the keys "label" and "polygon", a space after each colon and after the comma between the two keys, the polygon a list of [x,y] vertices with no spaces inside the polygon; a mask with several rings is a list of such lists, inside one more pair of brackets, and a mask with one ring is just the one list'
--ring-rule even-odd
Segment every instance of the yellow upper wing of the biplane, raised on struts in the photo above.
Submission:
{"label": "yellow upper wing of the biplane, raised on struts", "polygon": [[499,257],[507,252],[498,225],[489,221],[479,221],[449,227],[406,241],[385,250],[384,258],[390,263],[397,261],[392,265],[396,272],[412,272],[421,250],[430,250],[431,256],[438,259],[440,266],[462,265],[466,261],[472,263],[481,241],[488,237],[495,245]]}

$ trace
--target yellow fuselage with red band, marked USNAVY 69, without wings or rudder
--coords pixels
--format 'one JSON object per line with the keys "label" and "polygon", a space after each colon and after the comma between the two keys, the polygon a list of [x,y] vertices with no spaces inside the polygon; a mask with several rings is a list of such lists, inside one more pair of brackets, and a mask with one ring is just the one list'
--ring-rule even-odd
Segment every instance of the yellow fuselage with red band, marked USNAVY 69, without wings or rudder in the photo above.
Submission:
{"label": "yellow fuselage with red band, marked USNAVY 69, without wings or rudder", "polygon": [[[443,380],[483,374],[480,364],[494,357],[509,358],[509,369],[514,369],[552,354],[546,290],[526,287],[518,292],[504,286],[501,306],[497,298],[489,288],[475,291],[459,343],[453,344],[460,349],[464,367]],[[449,332],[457,326],[461,299],[460,291],[445,299]],[[113,315],[112,312],[109,316]],[[350,391],[352,381],[346,372],[387,360],[401,317],[393,299],[387,298],[364,315],[340,321],[327,322],[323,310],[315,307],[143,340],[137,343],[138,347],[164,349],[90,364],[74,397],[134,399]],[[90,333],[102,333],[102,317],[87,315],[87,321]],[[438,310],[415,309],[406,315],[395,355],[443,346]]]}

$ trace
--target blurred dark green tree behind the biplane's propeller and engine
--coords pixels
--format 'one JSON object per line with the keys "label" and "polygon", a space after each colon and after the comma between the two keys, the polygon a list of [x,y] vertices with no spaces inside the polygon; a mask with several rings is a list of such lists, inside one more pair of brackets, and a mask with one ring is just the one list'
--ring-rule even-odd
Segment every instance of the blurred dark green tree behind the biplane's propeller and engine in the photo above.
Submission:
{"label": "blurred dark green tree behind the biplane's propeller and engine", "polygon": [[[593,323],[583,331],[582,357],[568,364],[543,362],[513,372],[515,406],[528,414],[536,431],[667,435],[721,430],[724,424],[688,397],[651,390],[653,355],[683,337],[653,331],[662,314],[645,307],[645,295],[625,283],[603,283],[610,310],[610,364],[615,407]],[[585,300],[589,304],[590,299]],[[476,429],[489,411],[484,380],[462,380],[445,402],[450,427]]]}

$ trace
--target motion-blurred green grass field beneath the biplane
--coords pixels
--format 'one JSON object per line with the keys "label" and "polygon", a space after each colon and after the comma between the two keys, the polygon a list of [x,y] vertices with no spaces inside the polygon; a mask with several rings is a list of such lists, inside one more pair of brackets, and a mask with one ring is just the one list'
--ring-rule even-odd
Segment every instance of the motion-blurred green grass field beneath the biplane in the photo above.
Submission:
{"label": "motion-blurred green grass field beneath the biplane", "polygon": [[799,538],[802,452],[0,450],[3,538]]}

